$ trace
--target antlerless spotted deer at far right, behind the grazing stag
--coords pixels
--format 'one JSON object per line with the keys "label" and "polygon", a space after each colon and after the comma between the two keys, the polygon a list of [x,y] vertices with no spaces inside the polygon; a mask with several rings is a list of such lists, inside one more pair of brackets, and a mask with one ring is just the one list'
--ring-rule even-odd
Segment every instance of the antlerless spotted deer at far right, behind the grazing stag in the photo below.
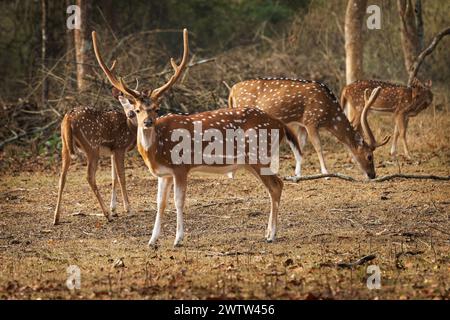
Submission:
{"label": "antlerless spotted deer at far right, behind the grazing stag", "polygon": [[411,87],[407,87],[384,81],[363,80],[345,86],[341,94],[341,106],[346,108],[350,122],[360,132],[359,119],[363,108],[364,90],[372,90],[376,87],[381,87],[382,90],[371,111],[394,114],[395,127],[391,155],[397,153],[397,141],[400,136],[405,156],[410,159],[411,154],[406,142],[408,121],[410,117],[416,116],[433,101],[431,81],[423,84],[416,79]]}

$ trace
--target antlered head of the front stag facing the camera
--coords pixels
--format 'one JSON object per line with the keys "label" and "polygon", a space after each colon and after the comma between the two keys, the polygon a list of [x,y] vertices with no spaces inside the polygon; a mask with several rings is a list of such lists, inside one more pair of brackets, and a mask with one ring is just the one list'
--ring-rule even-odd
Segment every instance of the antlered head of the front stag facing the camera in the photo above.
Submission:
{"label": "antlered head of the front stag facing the camera", "polygon": [[189,56],[188,45],[188,31],[183,30],[183,43],[184,52],[181,63],[177,65],[173,58],[170,59],[174,74],[170,77],[169,81],[163,86],[154,90],[138,91],[136,89],[130,89],[123,78],[117,78],[113,73],[113,68],[116,65],[116,61],[113,63],[113,67],[108,68],[103,61],[97,44],[97,34],[92,32],[92,42],[94,46],[95,57],[108,78],[109,82],[113,85],[113,95],[120,101],[124,108],[127,117],[136,125],[141,125],[142,128],[148,129],[153,126],[156,118],[158,117],[158,110],[160,105],[160,99],[167,90],[169,90],[174,83],[179,79],[184,69],[187,66],[187,58]]}

